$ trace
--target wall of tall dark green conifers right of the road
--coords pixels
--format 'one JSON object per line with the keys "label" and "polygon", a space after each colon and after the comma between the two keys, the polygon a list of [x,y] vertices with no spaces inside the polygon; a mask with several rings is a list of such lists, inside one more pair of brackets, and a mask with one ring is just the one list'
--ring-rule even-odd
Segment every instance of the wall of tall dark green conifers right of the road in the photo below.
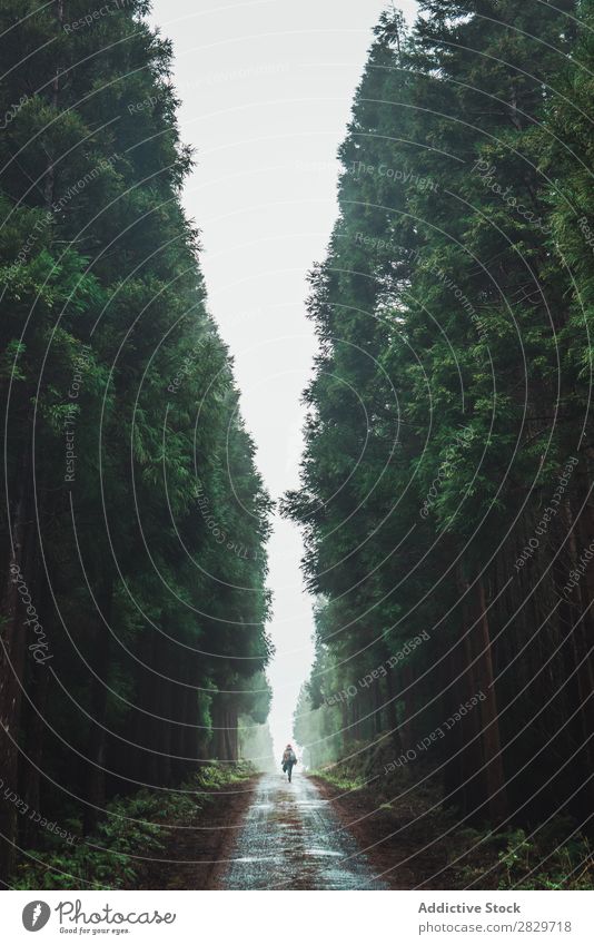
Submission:
{"label": "wall of tall dark green conifers right of the road", "polygon": [[593,37],[592,0],[380,18],[285,501],[317,601],[309,766],[565,838],[594,800]]}

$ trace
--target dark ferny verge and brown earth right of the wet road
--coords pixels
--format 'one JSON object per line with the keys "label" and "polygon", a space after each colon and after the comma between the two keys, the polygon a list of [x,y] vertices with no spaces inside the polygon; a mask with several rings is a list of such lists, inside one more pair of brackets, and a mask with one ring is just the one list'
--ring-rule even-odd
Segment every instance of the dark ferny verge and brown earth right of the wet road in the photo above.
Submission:
{"label": "dark ferny verge and brown earth right of the wet road", "polygon": [[498,831],[471,827],[442,805],[425,771],[377,784],[367,771],[355,758],[308,774],[331,789],[341,819],[393,888],[594,889],[592,843],[571,816]]}

